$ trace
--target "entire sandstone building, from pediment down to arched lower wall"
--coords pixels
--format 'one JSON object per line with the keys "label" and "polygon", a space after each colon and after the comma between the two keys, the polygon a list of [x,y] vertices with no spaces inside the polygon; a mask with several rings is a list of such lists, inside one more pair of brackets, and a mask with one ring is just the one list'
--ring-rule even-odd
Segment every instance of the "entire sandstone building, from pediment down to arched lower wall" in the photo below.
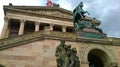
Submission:
{"label": "entire sandstone building, from pediment down to arched lower wall", "polygon": [[[120,38],[78,37],[72,12],[58,6],[3,6],[0,64],[5,67],[57,67],[60,40],[77,48],[81,67],[119,67]],[[99,26],[100,21],[86,17]],[[89,27],[83,32],[98,33]]]}

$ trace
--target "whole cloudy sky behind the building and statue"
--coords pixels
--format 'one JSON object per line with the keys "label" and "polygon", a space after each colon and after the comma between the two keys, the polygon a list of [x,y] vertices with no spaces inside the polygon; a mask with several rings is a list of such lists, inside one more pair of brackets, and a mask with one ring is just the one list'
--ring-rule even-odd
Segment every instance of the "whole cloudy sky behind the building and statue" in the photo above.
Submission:
{"label": "whole cloudy sky behind the building and statue", "polygon": [[[0,1],[0,32],[4,23],[3,5],[12,3],[20,6],[45,6],[47,0],[1,0]],[[101,21],[100,28],[110,37],[120,38],[120,0],[52,0],[61,8],[72,11],[81,1],[84,10]]]}

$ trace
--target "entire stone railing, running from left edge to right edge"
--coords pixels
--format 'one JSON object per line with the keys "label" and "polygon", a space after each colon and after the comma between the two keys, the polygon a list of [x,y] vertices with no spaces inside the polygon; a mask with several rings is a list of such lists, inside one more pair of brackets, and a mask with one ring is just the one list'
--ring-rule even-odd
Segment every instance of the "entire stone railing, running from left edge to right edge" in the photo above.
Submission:
{"label": "entire stone railing, running from left edge to right edge", "polygon": [[79,42],[95,42],[95,43],[107,43],[107,44],[112,44],[112,45],[120,45],[120,40],[117,40],[117,42],[112,42],[112,41],[104,41],[101,39],[88,39],[88,38],[81,38],[78,39],[75,33],[67,33],[67,32],[56,32],[56,31],[50,31],[50,30],[43,30],[39,32],[34,32],[30,34],[24,34],[16,37],[11,37],[11,38],[5,38],[5,39],[0,39],[0,50],[10,48],[13,46],[18,46],[22,45],[25,43],[29,43],[35,40],[40,40],[40,39],[57,39],[57,40],[67,40],[67,41],[79,41]]}

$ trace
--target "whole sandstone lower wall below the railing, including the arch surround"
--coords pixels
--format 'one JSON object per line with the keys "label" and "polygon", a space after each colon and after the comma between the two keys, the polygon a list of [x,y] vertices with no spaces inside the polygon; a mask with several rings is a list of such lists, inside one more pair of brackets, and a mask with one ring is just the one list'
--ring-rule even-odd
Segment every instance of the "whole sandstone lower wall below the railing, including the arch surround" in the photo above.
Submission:
{"label": "whole sandstone lower wall below the railing, including the arch surround", "polygon": [[[2,50],[0,51],[0,64],[6,67],[57,67],[55,50],[59,44],[59,40],[44,39]],[[115,57],[115,59],[111,62],[117,61],[120,66],[120,47],[118,46],[70,41],[66,41],[66,44],[77,48],[81,67],[88,67],[87,52],[89,53],[91,49],[97,48],[107,51],[108,55],[112,54],[110,58]]]}

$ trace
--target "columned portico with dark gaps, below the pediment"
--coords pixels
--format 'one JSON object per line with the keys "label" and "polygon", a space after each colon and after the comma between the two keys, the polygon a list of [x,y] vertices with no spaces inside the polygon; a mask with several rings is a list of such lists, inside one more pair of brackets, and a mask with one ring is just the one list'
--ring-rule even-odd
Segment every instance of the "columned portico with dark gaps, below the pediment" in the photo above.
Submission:
{"label": "columned portico with dark gaps, below the pediment", "polygon": [[[54,21],[55,22],[55,21]],[[61,24],[61,23],[59,23]],[[18,35],[23,35],[29,32],[37,32],[44,30],[44,27],[49,27],[51,31],[61,31],[61,32],[73,32],[73,27],[66,26],[65,24],[56,24],[45,21],[31,21],[26,19],[17,19],[11,17],[5,17],[5,24],[2,31],[2,38],[13,37]],[[16,26],[17,28],[12,28]],[[28,28],[29,27],[29,28]],[[59,27],[59,28],[57,28]],[[31,28],[31,29],[30,29]],[[14,31],[13,31],[14,29]],[[68,30],[68,31],[67,31]]]}

